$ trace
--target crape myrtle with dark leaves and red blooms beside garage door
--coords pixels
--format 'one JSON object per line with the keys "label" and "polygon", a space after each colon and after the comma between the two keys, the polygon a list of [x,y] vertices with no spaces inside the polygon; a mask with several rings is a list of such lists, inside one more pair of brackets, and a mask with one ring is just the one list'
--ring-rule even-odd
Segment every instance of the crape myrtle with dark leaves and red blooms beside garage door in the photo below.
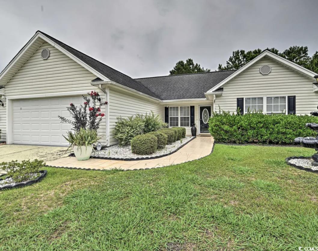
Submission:
{"label": "crape myrtle with dark leaves and red blooms beside garage door", "polygon": [[98,92],[87,92],[88,96],[82,95],[84,103],[79,107],[73,103],[67,107],[67,111],[70,112],[73,120],[58,116],[61,119],[61,123],[69,123],[73,126],[73,130],[79,131],[80,128],[97,130],[100,126],[104,113],[100,112],[100,107],[106,105],[107,102],[101,102],[101,98]]}

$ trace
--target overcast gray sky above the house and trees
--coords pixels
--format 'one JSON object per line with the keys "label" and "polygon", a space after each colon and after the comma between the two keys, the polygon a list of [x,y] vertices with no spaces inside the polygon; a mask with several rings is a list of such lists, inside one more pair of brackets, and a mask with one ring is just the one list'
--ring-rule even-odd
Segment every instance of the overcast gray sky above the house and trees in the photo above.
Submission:
{"label": "overcast gray sky above the house and trees", "polygon": [[318,50],[317,0],[0,3],[1,70],[37,30],[134,78],[169,75],[189,57],[213,71],[237,49]]}

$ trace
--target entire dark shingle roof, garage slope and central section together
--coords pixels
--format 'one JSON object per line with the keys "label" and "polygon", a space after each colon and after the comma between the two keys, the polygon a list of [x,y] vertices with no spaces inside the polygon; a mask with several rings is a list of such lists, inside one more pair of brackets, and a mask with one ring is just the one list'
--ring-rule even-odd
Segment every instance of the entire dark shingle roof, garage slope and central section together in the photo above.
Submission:
{"label": "entire dark shingle roof, garage slope and central section together", "polygon": [[215,71],[133,79],[44,32],[39,32],[110,80],[161,100],[204,98],[204,92],[210,90],[235,71]]}

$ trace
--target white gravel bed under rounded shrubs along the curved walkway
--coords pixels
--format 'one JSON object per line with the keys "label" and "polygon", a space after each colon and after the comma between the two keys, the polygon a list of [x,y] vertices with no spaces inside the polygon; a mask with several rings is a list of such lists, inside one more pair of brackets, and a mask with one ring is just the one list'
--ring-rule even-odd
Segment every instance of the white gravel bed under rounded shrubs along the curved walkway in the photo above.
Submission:
{"label": "white gravel bed under rounded shrubs along the curved walkway", "polygon": [[191,140],[193,137],[185,137],[184,139],[182,139],[182,143],[180,140],[177,140],[176,142],[166,145],[165,148],[157,150],[155,153],[153,154],[149,154],[149,155],[139,155],[139,154],[133,154],[131,152],[131,147],[130,146],[126,146],[126,147],[120,147],[119,145],[114,145],[111,147],[106,147],[102,150],[99,151],[99,153],[97,151],[94,151],[92,153],[92,156],[94,157],[108,157],[108,158],[121,158],[121,159],[136,159],[136,158],[145,158],[145,157],[155,157],[155,156],[160,156],[163,154],[169,154],[171,152],[173,152],[174,150],[176,150],[178,147],[184,145],[185,143],[187,143],[189,140]]}

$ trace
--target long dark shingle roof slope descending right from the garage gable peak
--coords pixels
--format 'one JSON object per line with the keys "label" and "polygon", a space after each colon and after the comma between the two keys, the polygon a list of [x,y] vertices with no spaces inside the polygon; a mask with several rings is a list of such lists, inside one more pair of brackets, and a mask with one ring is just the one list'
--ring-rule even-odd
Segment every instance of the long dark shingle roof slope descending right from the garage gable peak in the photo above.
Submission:
{"label": "long dark shingle roof slope descending right from the garage gable peak", "polygon": [[[41,31],[39,31],[41,32]],[[87,56],[84,53],[81,53],[80,51],[62,43],[61,41],[45,34],[44,32],[41,32],[44,36],[48,37],[51,39],[53,42],[57,43],[59,46],[67,50],[69,53],[73,54],[75,57],[80,59],[81,61],[85,62],[88,64],[90,67],[98,71],[100,74],[104,75],[105,77],[109,78],[110,80],[122,84],[124,86],[127,86],[129,88],[132,88],[134,90],[140,91],[144,94],[147,94],[151,97],[158,98],[156,94],[153,92],[149,91],[145,86],[143,86],[140,82],[136,81],[135,79],[101,63],[100,61],[97,61],[96,59],[93,59],[90,56]]]}

